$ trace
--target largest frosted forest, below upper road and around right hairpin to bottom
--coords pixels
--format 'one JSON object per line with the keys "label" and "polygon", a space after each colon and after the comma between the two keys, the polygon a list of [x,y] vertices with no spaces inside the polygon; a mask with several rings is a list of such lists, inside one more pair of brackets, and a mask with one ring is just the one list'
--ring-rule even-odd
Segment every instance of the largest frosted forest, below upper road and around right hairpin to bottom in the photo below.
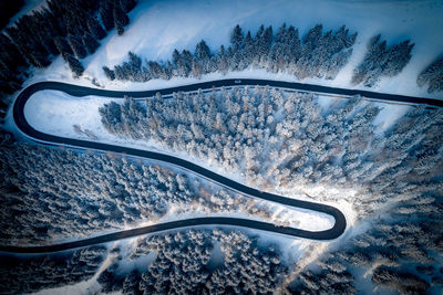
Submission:
{"label": "largest frosted forest, below upper road and around right hairpin to bottom", "polygon": [[312,94],[233,87],[127,97],[101,114],[115,135],[188,152],[260,189],[352,203],[369,230],[309,267],[292,265],[288,292],[354,294],[361,272],[400,293],[439,289],[443,110],[412,106],[380,130],[381,108],[359,97],[323,107]]}

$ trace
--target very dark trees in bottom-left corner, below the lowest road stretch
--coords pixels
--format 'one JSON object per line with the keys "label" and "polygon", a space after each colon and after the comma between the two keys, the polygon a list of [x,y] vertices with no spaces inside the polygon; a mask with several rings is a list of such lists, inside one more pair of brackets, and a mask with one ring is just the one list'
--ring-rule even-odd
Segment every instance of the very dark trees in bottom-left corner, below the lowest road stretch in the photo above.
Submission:
{"label": "very dark trees in bottom-left corner, below the lowest road stretch", "polygon": [[34,293],[90,280],[106,256],[104,246],[30,257],[0,256],[0,294]]}

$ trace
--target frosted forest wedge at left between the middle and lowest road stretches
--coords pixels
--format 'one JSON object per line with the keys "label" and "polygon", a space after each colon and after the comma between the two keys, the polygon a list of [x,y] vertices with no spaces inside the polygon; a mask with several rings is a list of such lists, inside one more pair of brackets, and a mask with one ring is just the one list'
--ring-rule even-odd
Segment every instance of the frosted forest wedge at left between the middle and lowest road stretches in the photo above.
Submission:
{"label": "frosted forest wedge at left between the middle and lowest road stretches", "polygon": [[1,244],[122,229],[197,196],[185,175],[159,166],[1,138]]}

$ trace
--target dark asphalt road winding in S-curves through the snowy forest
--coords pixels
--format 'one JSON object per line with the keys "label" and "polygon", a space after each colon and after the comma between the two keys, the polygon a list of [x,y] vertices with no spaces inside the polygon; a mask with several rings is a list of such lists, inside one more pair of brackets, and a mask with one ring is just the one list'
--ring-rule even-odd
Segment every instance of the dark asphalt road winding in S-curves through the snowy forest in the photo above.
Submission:
{"label": "dark asphalt road winding in S-curves through the snowy forest", "polygon": [[35,130],[25,119],[24,116],[24,105],[28,99],[39,91],[52,89],[52,91],[61,91],[69,95],[81,97],[86,95],[102,96],[102,97],[120,97],[127,95],[131,97],[151,97],[156,93],[161,93],[164,96],[172,95],[174,92],[194,92],[197,89],[209,89],[213,87],[229,87],[229,86],[272,86],[278,88],[286,88],[292,91],[302,91],[302,92],[313,92],[319,94],[328,94],[328,95],[340,95],[344,97],[350,97],[354,95],[361,95],[365,98],[378,99],[378,101],[389,101],[396,103],[406,103],[406,104],[426,104],[430,107],[443,107],[443,102],[439,99],[432,98],[420,98],[412,96],[402,96],[402,95],[392,95],[392,94],[381,94],[374,92],[367,91],[357,91],[357,89],[344,89],[344,88],[336,88],[336,87],[327,87],[311,84],[301,84],[301,83],[290,83],[290,82],[280,82],[280,81],[267,81],[267,80],[218,80],[212,82],[197,83],[185,86],[177,86],[171,88],[163,89],[154,89],[154,91],[143,91],[143,92],[121,92],[121,91],[105,91],[99,88],[91,88],[84,86],[76,86],[60,82],[41,82],[35,83],[23,89],[20,95],[17,97],[13,105],[13,118],[18,126],[18,128],[25,134],[28,137],[33,139],[34,141],[42,143],[45,145],[68,145],[79,149],[95,149],[102,151],[112,151],[112,152],[121,152],[130,156],[136,156],[146,159],[155,159],[164,162],[168,162],[185,170],[192,171],[194,173],[199,175],[200,177],[207,178],[214,182],[217,182],[224,187],[236,190],[243,194],[247,194],[254,198],[259,198],[267,201],[272,201],[277,203],[281,203],[285,206],[301,208],[307,210],[313,210],[318,212],[322,212],[329,214],[334,218],[336,222],[333,228],[326,231],[306,231],[295,228],[284,228],[277,226],[271,223],[266,223],[261,221],[248,220],[248,219],[239,219],[239,218],[225,218],[225,217],[207,217],[207,218],[195,218],[195,219],[186,219],[178,220],[165,223],[158,223],[154,225],[136,228],[132,230],[125,230],[120,232],[114,232],[110,234],[104,234],[100,236],[83,239],[73,242],[65,242],[60,244],[51,244],[51,245],[42,245],[42,246],[0,246],[0,251],[2,252],[13,252],[13,253],[47,253],[47,252],[56,252],[64,251],[75,247],[89,246],[93,244],[100,244],[111,241],[116,241],[126,238],[133,238],[147,233],[162,232],[178,228],[187,228],[187,226],[196,226],[196,225],[235,225],[235,226],[244,226],[249,229],[262,230],[268,232],[275,232],[280,234],[287,234],[297,238],[305,238],[311,240],[332,240],[339,238],[347,228],[347,222],[343,213],[333,208],[331,206],[301,201],[290,198],[285,198],[281,196],[277,196],[274,193],[264,192],[247,186],[244,186],[239,182],[236,182],[229,178],[217,175],[206,168],[197,166],[190,161],[164,155],[155,151],[148,150],[140,150],[134,148],[127,148],[122,146],[114,146],[87,140],[80,140],[73,138],[59,137],[50,134],[44,134],[39,130]]}

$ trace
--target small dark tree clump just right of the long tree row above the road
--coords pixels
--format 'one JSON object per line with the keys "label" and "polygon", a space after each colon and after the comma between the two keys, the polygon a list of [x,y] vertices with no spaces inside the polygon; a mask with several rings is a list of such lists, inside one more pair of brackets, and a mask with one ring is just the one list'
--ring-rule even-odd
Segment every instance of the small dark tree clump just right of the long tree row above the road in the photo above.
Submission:
{"label": "small dark tree clump just right of the long tree row above the road", "polygon": [[352,84],[374,86],[382,76],[398,75],[411,60],[414,44],[405,40],[391,46],[381,41],[381,35],[372,38],[368,44],[368,52],[363,61],[356,67]]}

